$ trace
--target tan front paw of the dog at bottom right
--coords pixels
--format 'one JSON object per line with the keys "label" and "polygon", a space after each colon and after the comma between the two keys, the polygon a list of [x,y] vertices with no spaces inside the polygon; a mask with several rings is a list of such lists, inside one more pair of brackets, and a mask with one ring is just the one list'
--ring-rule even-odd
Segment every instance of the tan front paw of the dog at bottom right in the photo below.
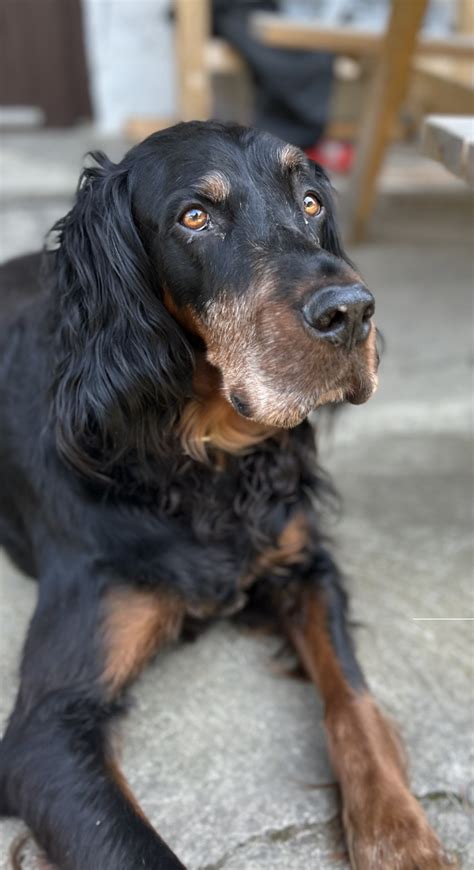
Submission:
{"label": "tan front paw of the dog at bottom right", "polygon": [[379,795],[370,816],[343,815],[353,870],[446,870],[454,868],[425,814],[408,790]]}

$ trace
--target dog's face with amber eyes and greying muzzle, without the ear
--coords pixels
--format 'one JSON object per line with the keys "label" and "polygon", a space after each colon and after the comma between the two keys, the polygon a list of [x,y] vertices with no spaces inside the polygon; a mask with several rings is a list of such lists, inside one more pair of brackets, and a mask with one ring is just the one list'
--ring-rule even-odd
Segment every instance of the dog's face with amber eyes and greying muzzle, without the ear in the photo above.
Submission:
{"label": "dog's face with amber eyes and greying muzzle, without the ear", "polygon": [[131,154],[134,218],[164,303],[234,408],[290,427],[368,399],[374,300],[344,259],[323,171],[272,136],[213,123]]}

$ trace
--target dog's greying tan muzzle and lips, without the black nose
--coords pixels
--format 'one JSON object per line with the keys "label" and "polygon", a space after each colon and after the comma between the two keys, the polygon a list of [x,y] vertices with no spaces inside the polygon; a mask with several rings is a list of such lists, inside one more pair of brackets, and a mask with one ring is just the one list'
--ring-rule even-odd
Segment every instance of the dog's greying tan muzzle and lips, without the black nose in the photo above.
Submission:
{"label": "dog's greying tan muzzle and lips, without the black nose", "polygon": [[[375,392],[378,353],[371,319],[365,339],[347,348],[315,339],[286,303],[247,306],[233,300],[209,306],[206,321],[172,307],[188,334],[199,339],[198,356],[207,362],[207,384],[197,394],[217,392],[239,416],[289,429],[323,405],[360,405]],[[200,380],[202,372],[195,387]]]}

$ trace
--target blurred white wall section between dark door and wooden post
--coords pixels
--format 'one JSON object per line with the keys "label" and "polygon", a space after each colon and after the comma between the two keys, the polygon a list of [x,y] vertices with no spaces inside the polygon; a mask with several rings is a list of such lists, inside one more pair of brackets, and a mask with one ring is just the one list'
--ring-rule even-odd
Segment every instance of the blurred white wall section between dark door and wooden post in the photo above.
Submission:
{"label": "blurred white wall section between dark door and wooden post", "polygon": [[82,0],[95,120],[118,133],[131,115],[176,111],[168,0]]}

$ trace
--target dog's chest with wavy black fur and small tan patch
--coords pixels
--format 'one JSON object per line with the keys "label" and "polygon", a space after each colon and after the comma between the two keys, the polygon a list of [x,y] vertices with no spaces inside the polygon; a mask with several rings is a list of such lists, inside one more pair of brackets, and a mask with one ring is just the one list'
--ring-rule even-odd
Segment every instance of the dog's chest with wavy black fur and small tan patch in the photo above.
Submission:
{"label": "dog's chest with wavy black fur and small tan patch", "polygon": [[[169,583],[198,616],[238,609],[259,578],[285,582],[313,546],[308,493],[318,485],[315,468],[313,435],[307,430],[306,435],[292,433],[285,449],[266,443],[244,456],[229,455],[223,463],[183,457],[161,469],[156,486],[135,491],[131,552],[139,560],[125,555],[131,578]],[[160,551],[163,532],[170,573]],[[126,550],[123,542],[119,554]],[[122,558],[116,569],[123,571]]]}

